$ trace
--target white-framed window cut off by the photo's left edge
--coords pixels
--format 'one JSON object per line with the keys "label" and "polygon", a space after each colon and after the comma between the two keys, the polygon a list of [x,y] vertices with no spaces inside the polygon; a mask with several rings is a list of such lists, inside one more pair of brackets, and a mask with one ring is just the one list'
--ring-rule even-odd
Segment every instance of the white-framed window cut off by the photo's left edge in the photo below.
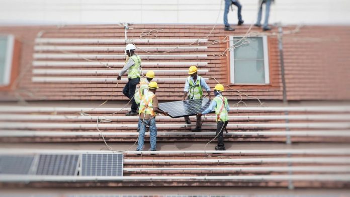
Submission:
{"label": "white-framed window cut off by the photo's left edge", "polygon": [[14,43],[14,36],[0,35],[0,86],[10,84]]}

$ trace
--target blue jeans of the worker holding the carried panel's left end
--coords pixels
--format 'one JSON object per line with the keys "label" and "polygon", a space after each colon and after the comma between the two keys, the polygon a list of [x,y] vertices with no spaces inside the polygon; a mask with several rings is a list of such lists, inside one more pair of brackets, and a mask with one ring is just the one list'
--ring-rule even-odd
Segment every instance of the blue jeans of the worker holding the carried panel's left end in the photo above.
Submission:
{"label": "blue jeans of the worker holding the carried panel's left end", "polygon": [[144,120],[142,124],[143,119],[139,119],[139,125],[141,125],[140,133],[139,133],[139,139],[138,139],[138,151],[143,149],[143,143],[145,140],[145,131],[146,131],[146,125],[149,125],[149,136],[150,136],[150,143],[151,143],[151,150],[156,150],[156,143],[157,143],[157,127],[155,126],[155,117],[152,117],[150,120]]}

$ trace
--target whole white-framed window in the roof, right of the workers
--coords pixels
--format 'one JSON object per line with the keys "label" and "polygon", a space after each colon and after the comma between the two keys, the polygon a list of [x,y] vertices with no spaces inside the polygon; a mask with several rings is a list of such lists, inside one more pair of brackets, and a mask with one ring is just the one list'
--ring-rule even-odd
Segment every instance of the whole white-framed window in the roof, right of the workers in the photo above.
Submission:
{"label": "whole white-framed window in the roof, right of the workers", "polygon": [[230,82],[232,84],[269,84],[269,55],[266,36],[230,36]]}

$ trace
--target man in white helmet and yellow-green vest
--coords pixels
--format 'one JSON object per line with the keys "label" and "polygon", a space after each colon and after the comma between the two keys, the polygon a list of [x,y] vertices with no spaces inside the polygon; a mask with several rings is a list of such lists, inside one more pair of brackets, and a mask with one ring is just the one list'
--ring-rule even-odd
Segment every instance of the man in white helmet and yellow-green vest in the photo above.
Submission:
{"label": "man in white helmet and yellow-green vest", "polygon": [[125,51],[129,59],[120,71],[117,79],[120,80],[125,72],[128,73],[128,82],[123,88],[123,94],[131,99],[131,111],[126,113],[125,116],[136,116],[137,104],[135,103],[134,94],[136,85],[140,82],[141,74],[141,59],[135,54],[136,47],[133,44],[126,45]]}

